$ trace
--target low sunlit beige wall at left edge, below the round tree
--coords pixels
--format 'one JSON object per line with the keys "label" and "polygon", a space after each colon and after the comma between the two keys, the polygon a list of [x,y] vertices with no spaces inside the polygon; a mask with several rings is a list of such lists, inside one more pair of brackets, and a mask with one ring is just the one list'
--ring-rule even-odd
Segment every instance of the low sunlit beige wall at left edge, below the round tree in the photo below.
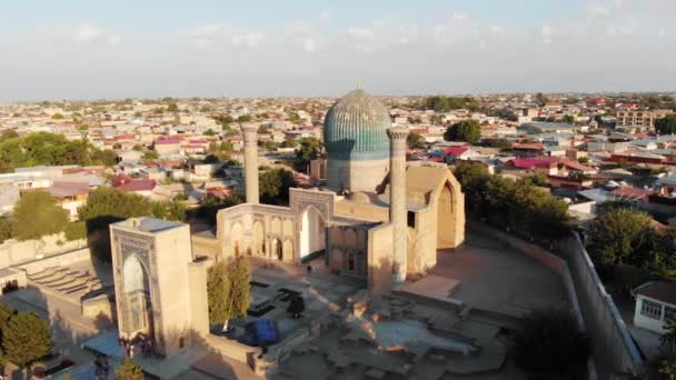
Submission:
{"label": "low sunlit beige wall at left edge, below the round tree", "polygon": [[63,233],[42,237],[39,240],[17,241],[10,239],[0,244],[0,268],[19,266],[39,258],[47,258],[86,247],[86,239],[67,241]]}

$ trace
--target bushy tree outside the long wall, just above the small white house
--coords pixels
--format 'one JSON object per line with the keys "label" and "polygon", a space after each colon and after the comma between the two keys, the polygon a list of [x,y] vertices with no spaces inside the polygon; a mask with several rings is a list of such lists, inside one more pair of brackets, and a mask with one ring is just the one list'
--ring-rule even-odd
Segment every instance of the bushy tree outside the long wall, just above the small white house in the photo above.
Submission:
{"label": "bushy tree outside the long wall, just above the small white house", "polygon": [[589,228],[588,250],[600,267],[650,267],[656,264],[658,236],[647,213],[626,207],[602,210]]}

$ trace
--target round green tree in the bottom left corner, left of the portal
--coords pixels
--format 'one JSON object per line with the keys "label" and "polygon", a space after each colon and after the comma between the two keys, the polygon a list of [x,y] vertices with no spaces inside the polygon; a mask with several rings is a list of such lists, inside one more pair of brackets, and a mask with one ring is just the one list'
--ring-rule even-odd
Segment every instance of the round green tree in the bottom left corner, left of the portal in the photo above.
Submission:
{"label": "round green tree in the bottom left corner, left of the portal", "polygon": [[2,349],[9,361],[26,368],[51,352],[49,323],[36,313],[13,314],[2,329]]}

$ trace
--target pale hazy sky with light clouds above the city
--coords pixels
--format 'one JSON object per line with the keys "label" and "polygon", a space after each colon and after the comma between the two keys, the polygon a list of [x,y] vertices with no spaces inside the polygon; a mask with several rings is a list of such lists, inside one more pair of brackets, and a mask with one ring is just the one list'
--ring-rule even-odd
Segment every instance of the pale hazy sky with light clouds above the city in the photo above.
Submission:
{"label": "pale hazy sky with light clouds above the city", "polygon": [[676,90],[676,0],[21,0],[0,101]]}

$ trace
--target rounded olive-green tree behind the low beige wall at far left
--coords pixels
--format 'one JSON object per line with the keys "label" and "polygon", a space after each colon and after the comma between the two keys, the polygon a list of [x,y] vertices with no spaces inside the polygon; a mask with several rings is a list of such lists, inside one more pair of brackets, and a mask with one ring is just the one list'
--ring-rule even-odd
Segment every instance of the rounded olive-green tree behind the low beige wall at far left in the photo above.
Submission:
{"label": "rounded olive-green tree behind the low beige wall at far left", "polygon": [[59,233],[68,223],[68,211],[46,191],[32,191],[14,206],[12,231],[18,240],[39,239]]}

